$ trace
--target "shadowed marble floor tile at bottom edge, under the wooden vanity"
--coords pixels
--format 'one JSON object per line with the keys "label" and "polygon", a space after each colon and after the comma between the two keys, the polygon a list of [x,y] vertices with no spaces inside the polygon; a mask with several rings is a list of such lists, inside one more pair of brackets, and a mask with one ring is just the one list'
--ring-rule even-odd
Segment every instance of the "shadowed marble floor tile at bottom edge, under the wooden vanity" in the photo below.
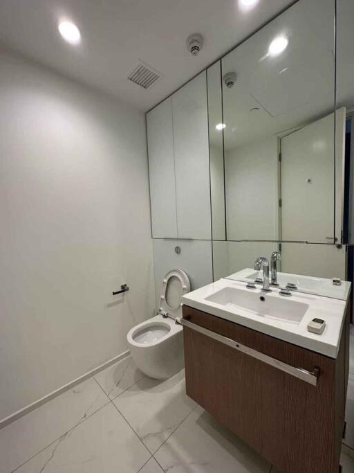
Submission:
{"label": "shadowed marble floor tile at bottom edge, under the wooden vanity", "polygon": [[270,463],[197,407],[156,452],[165,472],[268,473]]}

